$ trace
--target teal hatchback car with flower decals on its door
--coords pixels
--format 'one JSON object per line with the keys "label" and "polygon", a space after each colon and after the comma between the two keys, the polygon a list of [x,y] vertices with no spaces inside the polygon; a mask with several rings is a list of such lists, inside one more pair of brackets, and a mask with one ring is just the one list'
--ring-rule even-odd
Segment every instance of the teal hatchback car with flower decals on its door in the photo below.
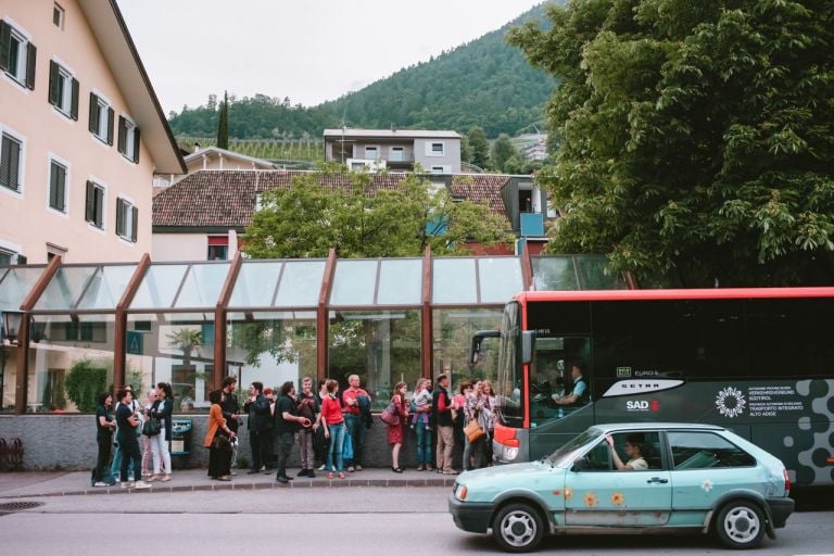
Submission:
{"label": "teal hatchback car with flower decals on its door", "polygon": [[546,458],[467,471],[448,509],[508,552],[545,533],[715,532],[753,548],[794,510],[778,458],[711,425],[598,425]]}

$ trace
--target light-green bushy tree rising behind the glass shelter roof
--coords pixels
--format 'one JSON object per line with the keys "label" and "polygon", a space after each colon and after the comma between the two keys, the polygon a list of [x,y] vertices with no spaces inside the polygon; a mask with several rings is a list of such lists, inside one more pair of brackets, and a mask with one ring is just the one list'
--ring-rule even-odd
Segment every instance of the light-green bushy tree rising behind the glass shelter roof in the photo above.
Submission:
{"label": "light-green bushy tree rising behind the glass shelter roof", "polygon": [[[296,176],[288,189],[262,197],[247,228],[244,251],[254,258],[415,256],[466,253],[467,241],[508,243],[506,223],[485,205],[457,202],[427,175],[409,174],[396,187],[377,188],[374,175],[340,165]],[[331,185],[340,184],[340,185]]]}

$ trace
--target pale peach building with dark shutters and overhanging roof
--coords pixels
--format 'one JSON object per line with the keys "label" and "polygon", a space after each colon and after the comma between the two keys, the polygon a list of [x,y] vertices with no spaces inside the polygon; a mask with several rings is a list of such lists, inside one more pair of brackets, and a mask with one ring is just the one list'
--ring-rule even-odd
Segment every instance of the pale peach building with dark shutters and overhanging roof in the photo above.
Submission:
{"label": "pale peach building with dark shutters and overhanging roof", "polygon": [[186,165],[116,1],[2,5],[0,264],[139,260]]}

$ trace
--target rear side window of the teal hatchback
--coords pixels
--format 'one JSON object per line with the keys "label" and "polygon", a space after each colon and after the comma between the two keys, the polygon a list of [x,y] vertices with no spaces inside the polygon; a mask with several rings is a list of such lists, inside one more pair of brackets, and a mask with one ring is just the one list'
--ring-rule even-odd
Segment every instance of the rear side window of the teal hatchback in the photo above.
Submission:
{"label": "rear side window of the teal hatchback", "polygon": [[711,432],[670,432],[669,445],[675,470],[756,465],[747,452]]}

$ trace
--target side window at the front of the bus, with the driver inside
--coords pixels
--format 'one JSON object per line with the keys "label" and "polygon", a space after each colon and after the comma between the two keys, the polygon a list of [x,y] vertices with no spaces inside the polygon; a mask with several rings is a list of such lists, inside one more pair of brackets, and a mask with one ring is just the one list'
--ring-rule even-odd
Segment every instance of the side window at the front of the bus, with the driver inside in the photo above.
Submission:
{"label": "side window at the front of the bus, with the driver inside", "polygon": [[590,359],[590,337],[536,336],[528,366],[530,459],[553,453],[593,425]]}

